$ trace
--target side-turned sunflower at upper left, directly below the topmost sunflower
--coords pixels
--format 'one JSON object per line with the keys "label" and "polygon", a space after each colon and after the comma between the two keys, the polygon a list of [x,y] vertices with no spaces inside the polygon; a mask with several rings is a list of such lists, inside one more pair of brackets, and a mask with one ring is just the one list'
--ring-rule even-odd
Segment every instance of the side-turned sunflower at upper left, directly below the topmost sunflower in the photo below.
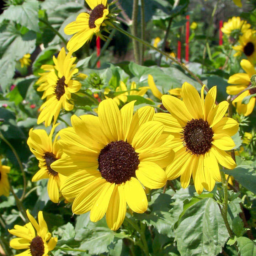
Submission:
{"label": "side-turned sunflower at upper left, directly below the topmost sunflower", "polygon": [[71,52],[66,54],[63,47],[57,59],[53,56],[54,70],[48,71],[41,80],[39,78],[40,81],[37,81],[38,83],[42,82],[37,91],[44,91],[42,99],[47,97],[46,102],[40,107],[38,124],[45,121],[47,127],[51,124],[52,118],[54,118],[53,123],[55,124],[61,108],[66,111],[71,111],[74,108],[68,100],[71,98],[71,93],[79,91],[81,83],[71,79],[74,74],[78,73],[78,69],[73,65],[76,58],[71,55]]}

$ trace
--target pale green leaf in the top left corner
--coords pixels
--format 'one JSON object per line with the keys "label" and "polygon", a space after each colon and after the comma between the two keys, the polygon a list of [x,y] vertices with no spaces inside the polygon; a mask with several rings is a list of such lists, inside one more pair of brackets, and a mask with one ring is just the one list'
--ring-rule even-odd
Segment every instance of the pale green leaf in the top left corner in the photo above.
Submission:
{"label": "pale green leaf in the top left corner", "polygon": [[3,12],[6,20],[12,20],[19,23],[29,30],[40,32],[38,26],[39,3],[36,0],[25,0],[22,5],[10,5]]}

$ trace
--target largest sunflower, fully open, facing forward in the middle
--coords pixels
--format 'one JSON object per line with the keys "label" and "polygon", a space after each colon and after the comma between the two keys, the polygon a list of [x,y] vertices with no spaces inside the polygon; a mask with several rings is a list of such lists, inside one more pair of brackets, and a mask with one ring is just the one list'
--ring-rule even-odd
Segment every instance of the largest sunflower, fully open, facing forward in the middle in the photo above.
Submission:
{"label": "largest sunflower, fully open, facing forward in the middle", "polygon": [[154,108],[146,106],[133,115],[134,102],[119,110],[109,98],[99,104],[98,117],[73,115],[73,127],[59,132],[68,156],[51,165],[68,176],[60,190],[68,198],[75,197],[73,213],[90,210],[93,222],[106,213],[112,230],[123,223],[126,203],[134,212],[145,212],[144,187],[165,185],[162,168],[174,156],[169,147],[172,136],[162,135],[164,125],[152,121]]}

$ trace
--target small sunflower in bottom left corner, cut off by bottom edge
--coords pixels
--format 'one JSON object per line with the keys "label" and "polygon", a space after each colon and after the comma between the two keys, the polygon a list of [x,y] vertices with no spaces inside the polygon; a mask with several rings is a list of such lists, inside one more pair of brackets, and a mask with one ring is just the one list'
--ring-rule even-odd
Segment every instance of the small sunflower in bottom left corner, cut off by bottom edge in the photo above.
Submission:
{"label": "small sunflower in bottom left corner, cut off by bottom edge", "polygon": [[10,241],[10,246],[16,250],[27,249],[17,256],[49,256],[49,251],[54,249],[58,239],[49,233],[42,211],[38,212],[38,223],[28,210],[26,213],[30,222],[8,229],[12,235],[17,236]]}

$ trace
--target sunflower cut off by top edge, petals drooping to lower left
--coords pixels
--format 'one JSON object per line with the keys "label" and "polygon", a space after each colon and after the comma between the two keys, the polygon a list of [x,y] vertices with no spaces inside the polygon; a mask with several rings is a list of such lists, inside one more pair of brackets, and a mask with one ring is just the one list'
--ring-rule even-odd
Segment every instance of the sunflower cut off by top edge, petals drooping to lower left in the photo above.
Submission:
{"label": "sunflower cut off by top edge, petals drooping to lower left", "polygon": [[104,20],[107,19],[108,5],[107,0],[85,0],[91,8],[90,14],[82,12],[76,21],[69,23],[65,28],[65,34],[74,34],[67,44],[70,52],[75,52],[96,34],[101,37],[100,26],[105,26]]}

